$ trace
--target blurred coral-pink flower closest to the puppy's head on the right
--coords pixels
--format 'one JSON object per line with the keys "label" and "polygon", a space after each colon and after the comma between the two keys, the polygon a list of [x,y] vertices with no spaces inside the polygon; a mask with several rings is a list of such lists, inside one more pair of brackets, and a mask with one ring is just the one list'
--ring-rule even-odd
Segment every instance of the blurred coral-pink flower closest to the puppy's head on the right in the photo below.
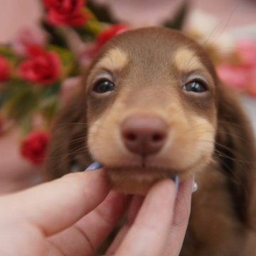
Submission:
{"label": "blurred coral-pink flower closest to the puppy's head on the right", "polygon": [[242,65],[221,64],[217,67],[220,80],[231,87],[242,89],[248,83],[248,70]]}

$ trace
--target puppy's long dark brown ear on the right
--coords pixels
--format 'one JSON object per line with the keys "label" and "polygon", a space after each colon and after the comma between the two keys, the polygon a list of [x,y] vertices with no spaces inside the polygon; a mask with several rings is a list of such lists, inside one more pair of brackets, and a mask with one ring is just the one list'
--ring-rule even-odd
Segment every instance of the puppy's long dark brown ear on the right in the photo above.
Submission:
{"label": "puppy's long dark brown ear on the right", "polygon": [[233,92],[223,85],[218,87],[217,104],[215,154],[220,158],[220,169],[228,178],[238,218],[242,223],[255,227],[256,154],[252,128]]}

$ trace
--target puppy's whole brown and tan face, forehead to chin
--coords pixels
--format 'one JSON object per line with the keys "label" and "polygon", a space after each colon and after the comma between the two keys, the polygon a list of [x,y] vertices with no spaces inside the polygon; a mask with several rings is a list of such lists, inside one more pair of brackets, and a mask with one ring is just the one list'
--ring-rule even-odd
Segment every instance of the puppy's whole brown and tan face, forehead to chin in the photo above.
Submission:
{"label": "puppy's whole brown and tan face, forehead to chin", "polygon": [[87,147],[114,187],[145,193],[211,161],[215,81],[203,50],[169,29],[129,31],[102,49],[85,88]]}

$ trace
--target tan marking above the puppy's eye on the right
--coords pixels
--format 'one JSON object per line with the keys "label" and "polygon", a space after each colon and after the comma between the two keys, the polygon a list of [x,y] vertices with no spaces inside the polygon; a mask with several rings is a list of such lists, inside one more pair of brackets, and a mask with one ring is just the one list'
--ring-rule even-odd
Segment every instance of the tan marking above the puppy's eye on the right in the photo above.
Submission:
{"label": "tan marking above the puppy's eye on the right", "polygon": [[205,69],[195,51],[188,48],[178,48],[174,55],[174,65],[183,72]]}

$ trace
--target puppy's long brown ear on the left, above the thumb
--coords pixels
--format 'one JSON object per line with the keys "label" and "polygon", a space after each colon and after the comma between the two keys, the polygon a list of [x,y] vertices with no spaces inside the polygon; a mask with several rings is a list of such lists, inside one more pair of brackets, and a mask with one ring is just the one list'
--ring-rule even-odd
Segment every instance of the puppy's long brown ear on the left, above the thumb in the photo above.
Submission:
{"label": "puppy's long brown ear on the left, above the thumb", "polygon": [[46,180],[59,178],[73,169],[90,164],[86,148],[86,102],[75,97],[60,111],[51,129],[46,159]]}

